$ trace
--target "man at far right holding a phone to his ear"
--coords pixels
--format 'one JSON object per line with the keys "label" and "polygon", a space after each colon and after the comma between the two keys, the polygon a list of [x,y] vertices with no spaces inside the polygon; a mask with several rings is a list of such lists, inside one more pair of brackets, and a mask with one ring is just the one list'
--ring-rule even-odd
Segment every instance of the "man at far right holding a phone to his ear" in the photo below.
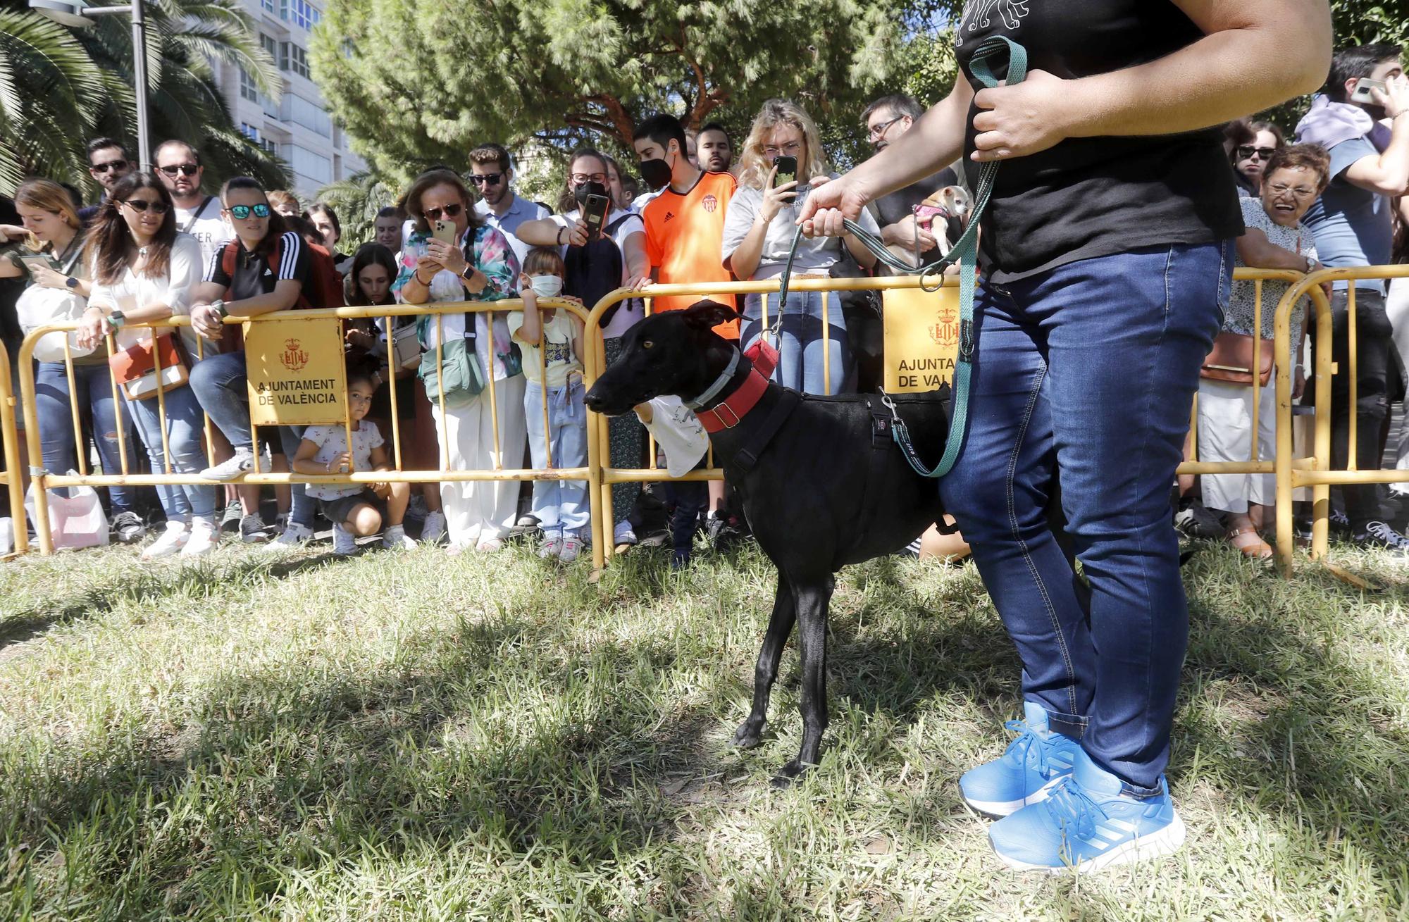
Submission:
{"label": "man at far right holding a phone to his ear", "polygon": [[[1394,199],[1409,186],[1409,80],[1398,45],[1343,48],[1332,61],[1324,94],[1296,125],[1301,144],[1330,151],[1330,186],[1312,204],[1302,224],[1316,235],[1316,252],[1327,266],[1386,265],[1394,238]],[[1361,80],[1370,100],[1357,100]],[[1389,127],[1382,124],[1389,121]],[[1357,395],[1350,407],[1348,326],[1350,292],[1355,286]],[[1357,413],[1355,457],[1363,471],[1379,467],[1379,430],[1389,409],[1389,386],[1396,374],[1394,340],[1385,312],[1385,283],[1379,279],[1336,282],[1332,296],[1332,357],[1343,374],[1332,379],[1332,465],[1344,469],[1350,454],[1350,413]],[[1409,539],[1381,522],[1374,485],[1346,486],[1346,516],[1351,541],[1409,555]]]}

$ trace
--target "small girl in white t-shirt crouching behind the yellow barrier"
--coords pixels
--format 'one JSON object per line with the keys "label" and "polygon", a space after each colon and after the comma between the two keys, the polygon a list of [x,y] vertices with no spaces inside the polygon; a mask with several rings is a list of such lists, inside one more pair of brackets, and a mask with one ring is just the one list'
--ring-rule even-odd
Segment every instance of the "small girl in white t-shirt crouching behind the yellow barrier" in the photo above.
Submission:
{"label": "small girl in white t-shirt crouching behind the yellow barrier", "polygon": [[[348,372],[348,416],[352,422],[352,451],[348,451],[342,426],[309,426],[293,457],[299,474],[341,474],[387,471],[385,441],[376,424],[365,419],[376,393],[375,374]],[[410,484],[309,484],[309,496],[318,500],[323,515],[333,523],[333,553],[352,554],[356,539],[376,534],[386,520],[382,547],[416,547],[402,529],[402,517],[411,498]]]}

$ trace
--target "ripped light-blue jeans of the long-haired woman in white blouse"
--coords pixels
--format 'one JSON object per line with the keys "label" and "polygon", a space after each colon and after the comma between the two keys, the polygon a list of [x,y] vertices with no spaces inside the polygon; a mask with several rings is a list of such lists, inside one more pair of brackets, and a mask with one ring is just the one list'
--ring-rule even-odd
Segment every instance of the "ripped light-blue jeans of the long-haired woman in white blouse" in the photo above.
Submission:
{"label": "ripped light-blue jeans of the long-haired woman in white blouse", "polygon": [[[147,445],[147,457],[152,461],[152,472],[163,474],[166,461],[162,455],[162,422],[161,405],[156,398],[145,400],[128,400],[127,409],[132,414],[132,423]],[[166,448],[170,453],[172,474],[199,474],[206,467],[206,448],[201,444],[206,420],[200,412],[200,403],[189,386],[175,388],[166,392]],[[161,496],[162,510],[168,522],[186,522],[192,519],[216,520],[216,488],[173,484],[156,486]]]}

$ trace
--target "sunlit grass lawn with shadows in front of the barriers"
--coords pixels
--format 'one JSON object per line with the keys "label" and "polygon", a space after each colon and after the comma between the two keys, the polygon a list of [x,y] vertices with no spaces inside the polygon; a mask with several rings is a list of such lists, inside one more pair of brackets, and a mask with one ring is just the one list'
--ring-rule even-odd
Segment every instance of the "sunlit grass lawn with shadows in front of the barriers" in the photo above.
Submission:
{"label": "sunlit grass lawn with shadows in front of the barriers", "polygon": [[1403,918],[1409,568],[1334,560],[1374,591],[1185,568],[1189,842],[1081,880],[1003,871],[958,799],[1020,706],[972,565],[841,574],[823,764],[775,791],[792,647],[764,746],[727,746],[752,550],[599,584],[524,548],[0,564],[0,918]]}

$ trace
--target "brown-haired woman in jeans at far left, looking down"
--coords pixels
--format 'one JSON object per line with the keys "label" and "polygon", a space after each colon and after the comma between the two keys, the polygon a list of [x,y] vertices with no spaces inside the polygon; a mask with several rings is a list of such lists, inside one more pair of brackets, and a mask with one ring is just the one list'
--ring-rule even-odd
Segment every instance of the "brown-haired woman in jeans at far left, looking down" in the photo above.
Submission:
{"label": "brown-haired woman in jeans at far left, looking down", "polygon": [[[0,252],[0,278],[27,278],[31,288],[70,292],[86,299],[93,285],[83,258],[83,224],[68,190],[48,179],[30,179],[20,183],[14,204],[24,226],[0,226],[0,237],[24,242]],[[72,393],[63,362],[39,362],[34,376],[44,467],[65,474],[77,465],[77,453],[87,455],[87,445],[75,440],[70,402],[76,402],[82,429],[93,433],[103,471],[121,474],[118,433],[132,444],[132,422],[127,406],[113,400],[113,385],[107,379],[107,344],[99,344],[86,355],[73,355],[72,361]],[[117,540],[124,544],[142,540],[147,526],[134,508],[135,491],[131,486],[110,486],[107,491]]]}

